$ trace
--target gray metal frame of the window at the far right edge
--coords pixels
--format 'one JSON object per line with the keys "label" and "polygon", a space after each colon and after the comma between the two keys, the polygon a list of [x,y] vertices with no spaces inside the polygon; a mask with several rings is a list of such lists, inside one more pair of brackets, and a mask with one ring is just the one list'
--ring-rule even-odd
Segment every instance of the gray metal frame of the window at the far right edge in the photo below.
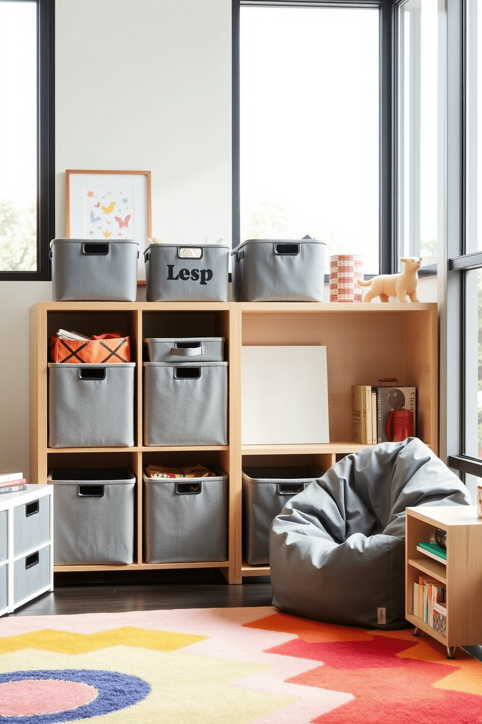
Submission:
{"label": "gray metal frame of the window at the far right edge", "polygon": [[[465,0],[446,0],[447,20],[447,151],[446,181],[444,188],[445,230],[444,248],[439,258],[446,266],[442,279],[444,304],[441,314],[441,397],[447,390],[444,409],[446,426],[441,426],[442,455],[447,465],[462,481],[471,475],[482,478],[482,460],[466,455],[466,400],[465,369],[468,310],[466,305],[467,274],[482,269],[482,252],[467,251],[467,6]],[[443,256],[442,256],[443,253]],[[442,266],[442,265],[441,265]],[[445,396],[445,395],[444,395]]]}

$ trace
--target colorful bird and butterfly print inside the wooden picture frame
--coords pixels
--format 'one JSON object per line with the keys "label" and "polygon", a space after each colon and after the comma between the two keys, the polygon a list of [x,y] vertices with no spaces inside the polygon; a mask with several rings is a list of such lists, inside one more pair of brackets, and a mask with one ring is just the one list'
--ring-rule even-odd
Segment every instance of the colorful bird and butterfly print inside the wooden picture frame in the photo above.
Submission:
{"label": "colorful bird and butterfly print inside the wooden picture frame", "polygon": [[116,238],[134,238],[133,200],[132,188],[85,188],[85,236],[107,239],[117,224]]}

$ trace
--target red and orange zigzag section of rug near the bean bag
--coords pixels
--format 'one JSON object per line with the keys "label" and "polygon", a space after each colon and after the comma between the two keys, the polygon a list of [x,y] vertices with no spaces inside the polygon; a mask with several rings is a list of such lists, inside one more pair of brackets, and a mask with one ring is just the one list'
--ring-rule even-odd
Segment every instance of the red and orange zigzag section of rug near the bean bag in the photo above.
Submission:
{"label": "red and orange zigzag section of rug near the bean bag", "polygon": [[464,649],[448,660],[442,644],[411,630],[369,631],[281,613],[246,626],[293,633],[269,651],[322,662],[287,681],[353,694],[314,724],[482,723],[482,662]]}

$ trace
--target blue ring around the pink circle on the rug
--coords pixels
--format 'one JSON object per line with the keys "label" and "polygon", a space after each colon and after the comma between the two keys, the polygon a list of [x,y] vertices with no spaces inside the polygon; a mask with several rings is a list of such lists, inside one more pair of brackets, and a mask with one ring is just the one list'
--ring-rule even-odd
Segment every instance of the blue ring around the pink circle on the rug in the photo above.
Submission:
{"label": "blue ring around the pink circle on the rug", "polygon": [[40,681],[50,679],[56,681],[75,681],[86,683],[98,691],[98,695],[89,704],[63,712],[28,716],[0,715],[1,724],[56,724],[77,719],[90,719],[111,712],[118,712],[126,707],[142,702],[150,694],[147,681],[119,671],[103,671],[95,669],[43,669],[39,671],[13,671],[0,673],[0,683],[12,681]]}

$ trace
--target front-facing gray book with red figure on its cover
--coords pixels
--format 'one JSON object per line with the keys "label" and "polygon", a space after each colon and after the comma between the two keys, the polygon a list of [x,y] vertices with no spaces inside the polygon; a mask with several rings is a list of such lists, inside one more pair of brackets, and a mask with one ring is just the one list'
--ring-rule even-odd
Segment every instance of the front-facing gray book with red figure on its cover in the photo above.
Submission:
{"label": "front-facing gray book with red figure on its cover", "polygon": [[416,434],[416,387],[376,387],[376,440],[400,442]]}

